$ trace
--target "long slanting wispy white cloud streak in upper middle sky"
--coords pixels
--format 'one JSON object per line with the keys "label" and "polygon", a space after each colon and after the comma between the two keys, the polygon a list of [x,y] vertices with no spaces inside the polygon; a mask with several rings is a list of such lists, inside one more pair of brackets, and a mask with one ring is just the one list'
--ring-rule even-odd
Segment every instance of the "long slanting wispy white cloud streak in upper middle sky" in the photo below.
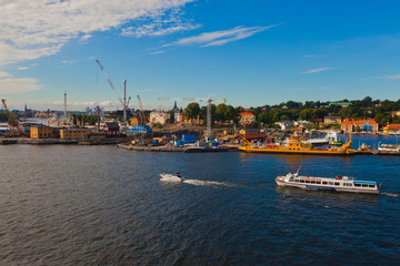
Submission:
{"label": "long slanting wispy white cloud streak in upper middle sky", "polygon": [[223,45],[228,42],[242,40],[253,34],[266,31],[279,24],[267,27],[236,27],[231,30],[204,32],[196,37],[182,38],[173,43],[164,44],[163,47],[171,45],[200,45],[200,47],[216,47]]}

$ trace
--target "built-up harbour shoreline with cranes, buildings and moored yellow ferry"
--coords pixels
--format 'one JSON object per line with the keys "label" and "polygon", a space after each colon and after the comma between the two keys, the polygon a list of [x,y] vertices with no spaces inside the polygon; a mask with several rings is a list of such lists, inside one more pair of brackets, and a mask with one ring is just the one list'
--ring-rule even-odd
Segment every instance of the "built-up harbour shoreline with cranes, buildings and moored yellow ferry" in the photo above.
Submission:
{"label": "built-up harbour shoreline with cranes, buildings and moored yellow ferry", "polygon": [[[123,83],[126,85],[127,81]],[[114,89],[113,85],[111,88]],[[128,108],[130,98],[127,103],[126,86],[123,92],[123,110],[111,112],[104,112],[100,106],[92,110],[87,108],[84,112],[68,111],[67,93],[63,112],[10,111],[6,99],[2,99],[3,122],[0,144],[116,145],[127,150],[153,152],[239,151],[308,155],[400,155],[400,122],[397,122],[400,121],[400,111],[386,113],[386,125],[382,124],[383,121],[378,123],[374,117],[368,115],[362,120],[343,119],[338,115],[350,109],[351,104],[370,106],[368,109],[371,113],[384,110],[379,100],[372,101],[368,96],[352,102],[339,102],[339,105],[338,102],[327,102],[319,108],[306,108],[301,102],[289,101],[280,105],[256,109],[233,108],[226,103],[226,99],[211,98],[200,99],[207,102],[203,108],[192,102],[183,109],[178,108],[177,101],[197,99],[171,98],[159,99],[173,101],[170,110],[144,110],[140,96],[137,95],[140,109],[134,110]],[[212,103],[218,101],[222,103]],[[293,103],[298,108],[287,106]],[[392,108],[398,103],[383,104],[390,104]],[[398,109],[400,110],[400,105]],[[308,114],[304,117],[301,114],[311,111],[322,115]],[[329,113],[330,111],[333,111],[334,115]],[[282,113],[277,116],[281,120],[266,121],[263,117],[269,112]],[[297,121],[289,120],[286,113],[290,112],[300,112]],[[283,117],[287,120],[282,120]],[[357,146],[352,143],[352,136],[358,135],[388,136],[390,143],[379,140],[370,144],[358,143]],[[346,139],[347,142],[340,139]]]}

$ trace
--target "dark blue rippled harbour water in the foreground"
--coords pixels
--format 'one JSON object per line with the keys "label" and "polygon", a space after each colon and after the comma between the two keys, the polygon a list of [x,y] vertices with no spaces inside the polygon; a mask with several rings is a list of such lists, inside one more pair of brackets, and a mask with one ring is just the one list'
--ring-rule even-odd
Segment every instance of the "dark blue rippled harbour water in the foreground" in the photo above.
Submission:
{"label": "dark blue rippled harbour water in the foreground", "polygon": [[[308,175],[377,180],[383,194],[277,187],[300,164]],[[399,165],[397,156],[0,146],[0,265],[396,265]],[[160,182],[162,172],[187,181]]]}

